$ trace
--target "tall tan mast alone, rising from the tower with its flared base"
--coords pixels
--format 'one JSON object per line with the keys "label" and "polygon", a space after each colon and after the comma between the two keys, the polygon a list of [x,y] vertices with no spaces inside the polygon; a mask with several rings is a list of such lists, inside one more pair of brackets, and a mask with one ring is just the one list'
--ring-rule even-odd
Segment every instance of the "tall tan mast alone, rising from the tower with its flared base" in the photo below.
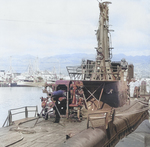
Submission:
{"label": "tall tan mast alone, rising from the tower with its flared base", "polygon": [[108,36],[109,33],[108,4],[111,4],[111,2],[99,3],[100,8],[99,27],[96,32],[98,47],[96,48],[97,56],[91,80],[113,80],[113,74],[110,68],[111,48],[109,46],[109,36]]}

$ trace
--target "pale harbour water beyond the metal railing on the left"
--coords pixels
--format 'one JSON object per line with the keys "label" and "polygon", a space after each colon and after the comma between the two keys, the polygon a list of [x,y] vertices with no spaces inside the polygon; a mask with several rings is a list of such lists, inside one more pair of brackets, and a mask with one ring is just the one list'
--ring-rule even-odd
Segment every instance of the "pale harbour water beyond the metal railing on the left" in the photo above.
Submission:
{"label": "pale harbour water beyond the metal railing on the left", "polygon": [[46,97],[40,87],[0,87],[0,127],[8,116],[8,110],[24,106],[38,106],[40,97]]}

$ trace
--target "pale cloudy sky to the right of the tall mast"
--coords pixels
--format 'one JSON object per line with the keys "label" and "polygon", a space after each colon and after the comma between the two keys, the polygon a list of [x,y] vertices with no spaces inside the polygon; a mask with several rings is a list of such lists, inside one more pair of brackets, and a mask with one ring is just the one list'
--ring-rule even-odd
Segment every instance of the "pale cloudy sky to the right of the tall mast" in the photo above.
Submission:
{"label": "pale cloudy sky to the right of the tall mast", "polygon": [[[150,13],[148,0],[121,0],[112,6],[112,22],[115,28],[113,43],[115,53],[126,55],[150,55]],[[117,10],[117,11],[115,11]],[[118,12],[118,13],[117,13]],[[116,20],[116,21],[115,21]]]}

